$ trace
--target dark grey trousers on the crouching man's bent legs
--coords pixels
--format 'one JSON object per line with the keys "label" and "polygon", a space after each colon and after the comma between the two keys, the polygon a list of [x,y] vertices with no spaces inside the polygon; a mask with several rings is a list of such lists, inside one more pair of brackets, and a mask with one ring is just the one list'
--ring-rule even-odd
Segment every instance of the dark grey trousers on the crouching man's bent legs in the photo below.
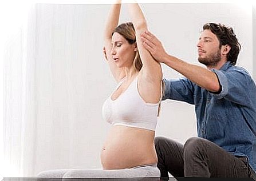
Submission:
{"label": "dark grey trousers on the crouching man's bent legs", "polygon": [[209,140],[193,137],[184,144],[156,137],[157,167],[161,179],[174,177],[249,178],[256,180],[255,172],[246,157],[231,155]]}

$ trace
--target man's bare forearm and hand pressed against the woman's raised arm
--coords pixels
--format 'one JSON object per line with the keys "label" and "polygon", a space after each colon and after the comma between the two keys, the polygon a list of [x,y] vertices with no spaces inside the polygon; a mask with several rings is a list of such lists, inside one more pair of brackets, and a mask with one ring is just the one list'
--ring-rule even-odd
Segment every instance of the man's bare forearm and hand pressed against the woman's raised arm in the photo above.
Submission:
{"label": "man's bare forearm and hand pressed against the woman's raised arm", "polygon": [[151,53],[152,57],[155,58],[157,62],[165,63],[167,66],[184,75],[184,77],[190,79],[190,81],[208,91],[218,92],[220,90],[218,77],[215,73],[203,67],[184,62],[172,55],[168,55],[162,43],[152,33],[145,31],[141,34],[141,40],[143,41],[145,49]]}

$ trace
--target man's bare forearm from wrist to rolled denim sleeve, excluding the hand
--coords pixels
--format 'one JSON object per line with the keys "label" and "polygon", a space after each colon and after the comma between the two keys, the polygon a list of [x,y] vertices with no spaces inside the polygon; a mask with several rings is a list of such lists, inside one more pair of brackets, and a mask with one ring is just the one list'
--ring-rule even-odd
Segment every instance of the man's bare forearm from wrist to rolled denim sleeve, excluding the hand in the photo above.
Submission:
{"label": "man's bare forearm from wrist to rolled denim sleeve, excluding the hand", "polygon": [[208,91],[218,92],[220,89],[218,77],[206,68],[192,65],[171,55],[165,55],[161,62]]}

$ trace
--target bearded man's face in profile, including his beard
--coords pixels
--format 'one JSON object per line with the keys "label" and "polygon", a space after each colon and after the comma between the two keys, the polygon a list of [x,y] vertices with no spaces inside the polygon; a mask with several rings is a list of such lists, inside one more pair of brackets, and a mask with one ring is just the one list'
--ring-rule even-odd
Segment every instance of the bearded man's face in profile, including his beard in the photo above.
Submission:
{"label": "bearded man's face in profile, including his beard", "polygon": [[219,40],[210,30],[204,30],[198,44],[198,61],[207,67],[215,67],[220,61]]}

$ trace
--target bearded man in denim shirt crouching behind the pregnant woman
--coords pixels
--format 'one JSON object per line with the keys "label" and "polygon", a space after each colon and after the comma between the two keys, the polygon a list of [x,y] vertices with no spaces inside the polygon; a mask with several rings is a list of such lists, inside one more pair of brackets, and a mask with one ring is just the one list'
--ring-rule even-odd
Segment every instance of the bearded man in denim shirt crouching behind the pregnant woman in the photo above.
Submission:
{"label": "bearded man in denim shirt crouching behind the pregnant woman", "polygon": [[195,105],[198,137],[180,144],[156,137],[161,178],[254,178],[256,171],[256,86],[250,74],[235,66],[241,45],[233,28],[206,23],[199,37],[198,61],[192,65],[169,55],[148,31],[144,47],[157,62],[184,75],[164,79],[163,100]]}

